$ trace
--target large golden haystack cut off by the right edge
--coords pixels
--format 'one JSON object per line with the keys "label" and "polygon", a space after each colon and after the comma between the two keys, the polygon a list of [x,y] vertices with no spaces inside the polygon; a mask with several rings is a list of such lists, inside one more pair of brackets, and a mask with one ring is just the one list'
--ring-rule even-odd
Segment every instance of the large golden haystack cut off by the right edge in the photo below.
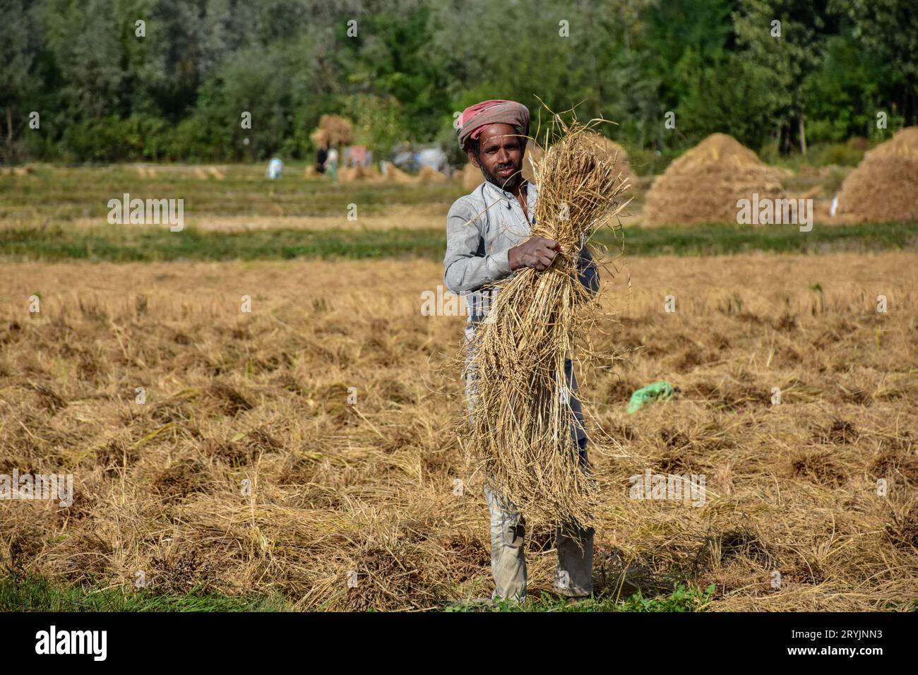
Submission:
{"label": "large golden haystack cut off by the right edge", "polygon": [[861,221],[918,219],[918,127],[864,155],[842,184],[836,213]]}

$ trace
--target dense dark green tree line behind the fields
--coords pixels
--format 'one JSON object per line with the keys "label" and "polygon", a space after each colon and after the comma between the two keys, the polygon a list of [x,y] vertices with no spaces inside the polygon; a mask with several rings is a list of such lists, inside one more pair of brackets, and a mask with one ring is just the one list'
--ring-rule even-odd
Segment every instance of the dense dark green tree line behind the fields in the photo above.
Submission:
{"label": "dense dark green tree line behind the fields", "polygon": [[455,152],[454,111],[533,95],[661,152],[918,123],[914,0],[0,0],[0,17],[5,162],[302,158],[323,113],[378,152]]}

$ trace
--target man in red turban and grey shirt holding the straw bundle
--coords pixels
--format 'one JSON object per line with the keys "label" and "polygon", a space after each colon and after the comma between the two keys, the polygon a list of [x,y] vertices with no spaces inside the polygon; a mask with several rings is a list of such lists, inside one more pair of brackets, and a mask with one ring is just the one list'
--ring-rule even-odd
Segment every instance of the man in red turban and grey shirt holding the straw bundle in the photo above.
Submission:
{"label": "man in red turban and grey shirt holding the straw bundle", "polygon": [[[470,194],[453,202],[446,216],[446,257],[443,281],[453,293],[466,296],[469,307],[465,337],[471,341],[479,321],[491,306],[490,286],[522,267],[544,270],[554,260],[558,245],[532,236],[537,186],[522,175],[529,109],[515,101],[490,100],[465,108],[456,124],[459,147],[481,169],[484,178]],[[593,293],[599,288],[596,264],[586,245],[580,252],[580,281]],[[468,344],[468,342],[466,342]],[[571,390],[577,389],[570,359],[565,373]],[[471,411],[476,374],[465,376],[465,396]],[[580,461],[588,467],[587,434],[580,402],[570,405],[578,424],[571,429],[580,446]],[[525,518],[516,506],[492,490],[485,476],[485,497],[491,518],[491,572],[493,601],[498,596],[526,598]],[[558,564],[554,591],[577,602],[593,592],[592,528],[555,530]]]}

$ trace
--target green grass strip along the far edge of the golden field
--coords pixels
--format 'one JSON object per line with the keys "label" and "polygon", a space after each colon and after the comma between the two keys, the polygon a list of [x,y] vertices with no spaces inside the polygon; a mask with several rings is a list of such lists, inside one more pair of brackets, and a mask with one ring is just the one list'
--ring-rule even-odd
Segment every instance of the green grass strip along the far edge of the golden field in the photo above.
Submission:
{"label": "green grass strip along the far edge of the golden field", "polygon": [[[621,233],[602,230],[594,241],[621,250]],[[627,230],[631,256],[890,251],[918,245],[918,222],[813,226],[697,225]],[[426,258],[442,260],[445,232],[430,230],[252,230],[171,232],[168,226],[54,225],[0,229],[0,256],[10,260],[153,262],[173,260],[289,260],[295,258]]]}

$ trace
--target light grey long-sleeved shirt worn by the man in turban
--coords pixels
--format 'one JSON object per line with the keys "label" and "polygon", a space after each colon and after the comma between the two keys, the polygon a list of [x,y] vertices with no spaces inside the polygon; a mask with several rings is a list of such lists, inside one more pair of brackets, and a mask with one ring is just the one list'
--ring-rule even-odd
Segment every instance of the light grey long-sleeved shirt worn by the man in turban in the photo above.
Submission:
{"label": "light grey long-sleeved shirt worn by the man in turban", "polygon": [[[469,307],[465,336],[469,340],[493,300],[494,290],[482,287],[513,275],[509,250],[532,235],[538,186],[526,182],[525,189],[528,220],[512,193],[488,181],[456,199],[446,215],[443,282],[453,293],[465,295]],[[586,245],[580,251],[577,269],[580,283],[596,293],[599,273]]]}

